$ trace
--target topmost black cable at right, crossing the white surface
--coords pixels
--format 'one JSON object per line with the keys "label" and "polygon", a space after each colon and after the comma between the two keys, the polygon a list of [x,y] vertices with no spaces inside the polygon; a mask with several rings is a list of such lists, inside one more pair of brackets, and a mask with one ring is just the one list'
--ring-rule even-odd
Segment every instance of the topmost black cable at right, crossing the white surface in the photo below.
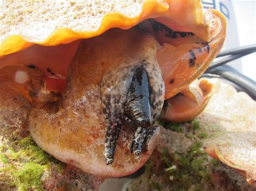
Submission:
{"label": "topmost black cable at right, crossing the white surface", "polygon": [[250,53],[256,52],[256,44],[241,46],[241,47],[237,47],[237,48],[228,49],[226,51],[222,51],[216,56],[216,58],[221,57],[221,56],[231,55],[231,54],[244,54],[244,53],[249,53],[249,52]]}

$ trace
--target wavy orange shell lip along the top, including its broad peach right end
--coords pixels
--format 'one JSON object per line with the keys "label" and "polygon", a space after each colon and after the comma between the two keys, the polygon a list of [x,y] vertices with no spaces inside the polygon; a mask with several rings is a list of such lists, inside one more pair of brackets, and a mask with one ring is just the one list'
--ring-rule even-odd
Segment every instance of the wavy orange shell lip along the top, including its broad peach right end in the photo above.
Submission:
{"label": "wavy orange shell lip along the top, including its broad peach right end", "polygon": [[[24,34],[12,32],[11,25],[8,24],[10,20],[7,20],[6,23],[3,23],[3,26],[6,28],[5,31],[10,31],[10,33],[0,33],[0,58],[4,55],[21,51],[24,48],[32,46],[33,44],[56,46],[59,44],[71,43],[77,39],[96,37],[114,27],[118,27],[120,29],[130,29],[132,26],[137,25],[147,18],[172,20],[173,23],[176,23],[177,25],[182,26],[184,29],[197,34],[205,41],[210,41],[210,29],[208,25],[204,24],[202,9],[203,6],[198,0],[146,0],[143,2],[141,11],[137,16],[128,17],[119,12],[109,12],[104,15],[97,30],[75,31],[72,30],[72,27],[57,27],[57,29],[49,32],[45,39],[39,38],[40,40],[35,40],[32,38],[32,36],[35,36],[35,34],[31,34],[31,36],[24,36]],[[185,14],[184,10],[186,10]],[[11,12],[7,13],[11,14]],[[218,13],[218,15],[221,14]],[[33,15],[31,15],[31,19],[32,17]],[[3,19],[4,15],[1,18]],[[27,22],[29,23],[29,20],[27,20]],[[26,29],[24,28],[23,30]]]}

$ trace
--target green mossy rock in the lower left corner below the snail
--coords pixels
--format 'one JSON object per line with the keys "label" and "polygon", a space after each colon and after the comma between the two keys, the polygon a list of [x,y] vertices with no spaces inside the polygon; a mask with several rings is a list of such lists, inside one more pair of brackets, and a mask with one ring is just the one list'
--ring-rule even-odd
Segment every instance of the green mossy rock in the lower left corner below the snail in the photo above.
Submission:
{"label": "green mossy rock in the lower left corner below the snail", "polygon": [[94,189],[101,178],[64,164],[39,148],[23,126],[0,126],[2,190]]}

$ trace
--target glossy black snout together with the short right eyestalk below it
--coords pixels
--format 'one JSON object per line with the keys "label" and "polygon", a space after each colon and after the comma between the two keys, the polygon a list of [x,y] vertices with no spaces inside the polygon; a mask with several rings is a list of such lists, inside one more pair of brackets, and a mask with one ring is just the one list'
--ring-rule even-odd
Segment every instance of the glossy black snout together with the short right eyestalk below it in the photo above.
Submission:
{"label": "glossy black snout together with the short right eyestalk below it", "polygon": [[130,152],[138,156],[151,126],[150,84],[144,65],[138,66],[133,74],[125,102],[125,116],[138,125],[130,146]]}

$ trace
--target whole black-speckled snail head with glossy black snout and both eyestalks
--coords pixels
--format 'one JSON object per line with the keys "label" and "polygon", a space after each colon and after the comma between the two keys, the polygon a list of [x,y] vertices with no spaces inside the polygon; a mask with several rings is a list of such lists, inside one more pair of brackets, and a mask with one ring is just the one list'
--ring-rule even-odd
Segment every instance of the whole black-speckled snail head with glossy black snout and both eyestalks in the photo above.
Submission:
{"label": "whole black-speckled snail head with glossy black snout and both eyestalks", "polygon": [[[100,82],[106,121],[104,159],[107,165],[113,163],[125,116],[138,127],[131,140],[131,152],[136,155],[146,149],[145,144],[159,130],[151,127],[164,103],[164,81],[156,59],[157,42],[148,34],[136,33],[142,39],[134,40],[129,51],[115,50],[120,51],[123,59],[107,69]],[[147,135],[151,135],[149,139]]]}

